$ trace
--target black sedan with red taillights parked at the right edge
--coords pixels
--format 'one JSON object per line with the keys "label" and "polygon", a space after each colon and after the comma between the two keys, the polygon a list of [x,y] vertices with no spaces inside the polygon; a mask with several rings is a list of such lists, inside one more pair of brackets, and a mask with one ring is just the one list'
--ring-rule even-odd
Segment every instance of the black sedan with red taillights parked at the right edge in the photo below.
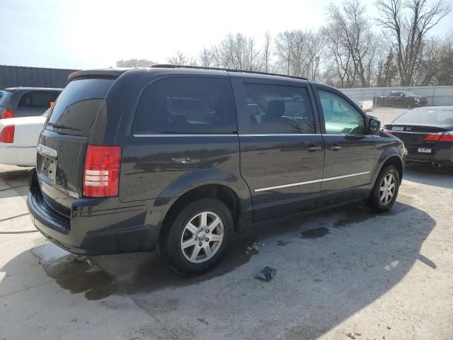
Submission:
{"label": "black sedan with red taillights parked at the right edge", "polygon": [[453,169],[453,106],[414,108],[384,129],[404,142],[406,162]]}

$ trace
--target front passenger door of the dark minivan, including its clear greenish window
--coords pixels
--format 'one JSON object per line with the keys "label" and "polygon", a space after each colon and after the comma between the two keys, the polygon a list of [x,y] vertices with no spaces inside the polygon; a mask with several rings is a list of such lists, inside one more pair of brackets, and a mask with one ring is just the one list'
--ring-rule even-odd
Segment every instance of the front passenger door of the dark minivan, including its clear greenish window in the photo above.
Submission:
{"label": "front passenger door of the dark minivan, including its clear greenish window", "polygon": [[366,134],[365,115],[339,91],[318,89],[318,94],[326,145],[323,203],[366,195],[374,166],[374,138]]}

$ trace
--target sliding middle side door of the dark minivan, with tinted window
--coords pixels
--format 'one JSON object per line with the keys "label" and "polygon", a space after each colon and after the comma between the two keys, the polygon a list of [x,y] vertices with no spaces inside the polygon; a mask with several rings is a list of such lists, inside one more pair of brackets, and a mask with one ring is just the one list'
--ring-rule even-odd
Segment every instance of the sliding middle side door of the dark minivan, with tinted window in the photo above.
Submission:
{"label": "sliding middle side door of the dark minivan, with tinted window", "polygon": [[241,175],[252,193],[254,220],[315,208],[324,148],[308,84],[262,79],[233,84]]}

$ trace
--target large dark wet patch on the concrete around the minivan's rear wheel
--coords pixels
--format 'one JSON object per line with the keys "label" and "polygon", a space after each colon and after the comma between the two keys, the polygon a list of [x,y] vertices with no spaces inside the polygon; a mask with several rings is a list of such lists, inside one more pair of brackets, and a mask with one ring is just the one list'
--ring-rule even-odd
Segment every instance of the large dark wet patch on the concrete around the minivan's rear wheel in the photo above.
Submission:
{"label": "large dark wet patch on the concrete around the minivan's rear wheel", "polygon": [[[72,294],[84,293],[88,300],[100,300],[113,293],[150,292],[161,288],[193,285],[222,276],[234,268],[250,261],[259,251],[247,247],[256,242],[256,237],[237,237],[226,251],[223,261],[212,270],[199,276],[184,277],[174,273],[157,251],[150,252],[142,263],[137,263],[139,256],[128,256],[132,269],[128,274],[115,278],[108,271],[103,270],[102,261],[110,261],[111,273],[115,273],[115,261],[124,260],[127,255],[94,256],[88,261],[75,261],[77,256],[69,254],[54,244],[44,244],[32,249],[40,264],[45,266],[45,272],[63,289]],[[141,255],[143,256],[143,254]],[[121,280],[122,278],[122,280]]]}

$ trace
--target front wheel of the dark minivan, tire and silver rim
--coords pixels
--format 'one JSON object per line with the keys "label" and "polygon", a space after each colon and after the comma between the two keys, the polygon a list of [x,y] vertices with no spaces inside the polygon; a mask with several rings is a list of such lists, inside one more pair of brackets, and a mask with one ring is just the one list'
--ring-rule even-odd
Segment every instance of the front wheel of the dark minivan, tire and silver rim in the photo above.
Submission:
{"label": "front wheel of the dark minivan, tire and silver rim", "polygon": [[[388,186],[385,183],[385,179],[387,180],[387,183],[390,183]],[[393,180],[393,182],[391,180]],[[391,183],[394,183],[393,191],[391,190]],[[394,206],[396,197],[398,196],[400,183],[398,169],[393,165],[384,167],[377,176],[371,195],[367,198],[367,204],[377,212],[390,210],[391,207]],[[384,198],[382,198],[382,188],[386,191]],[[389,195],[388,190],[390,190],[390,193],[392,193],[393,196]]]}

